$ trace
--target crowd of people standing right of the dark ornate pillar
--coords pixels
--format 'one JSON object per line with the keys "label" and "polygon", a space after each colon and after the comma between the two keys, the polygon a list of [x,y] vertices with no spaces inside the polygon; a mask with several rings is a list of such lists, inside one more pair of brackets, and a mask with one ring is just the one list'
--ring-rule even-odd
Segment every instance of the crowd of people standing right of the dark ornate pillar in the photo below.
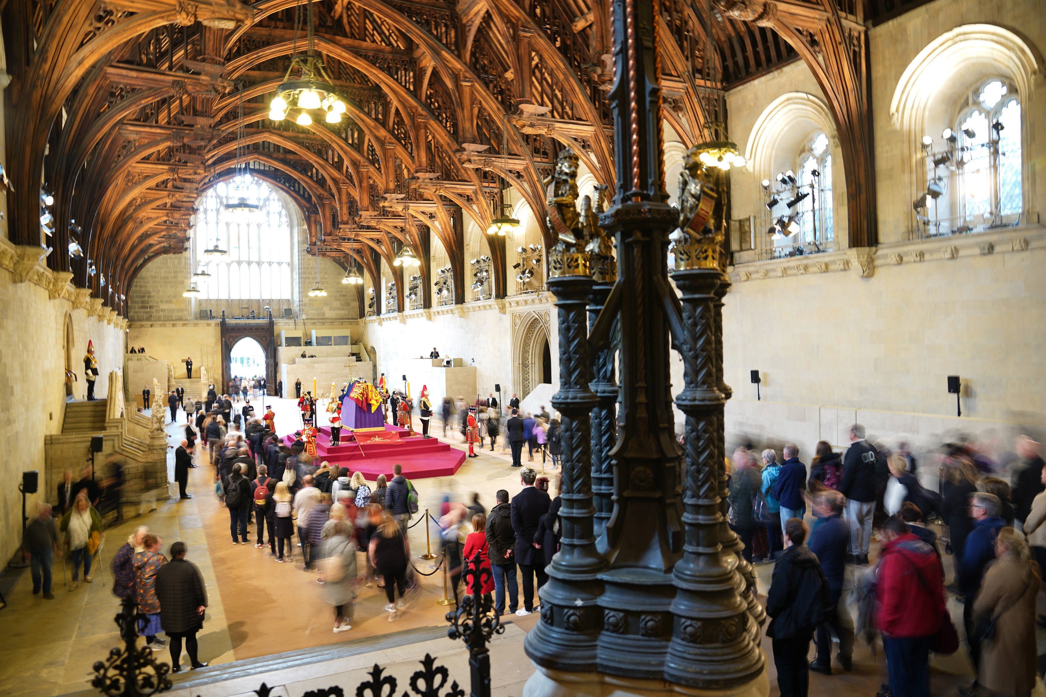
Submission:
{"label": "crowd of people standing right of the dark ornate pillar", "polygon": [[[930,653],[959,648],[946,604],[954,595],[976,675],[960,688],[962,697],[1028,695],[1038,671],[1036,625],[1046,628],[1046,617],[1036,618],[1046,561],[1039,444],[1021,436],[1000,463],[970,442],[948,443],[940,490],[932,491],[905,444],[869,444],[860,424],[850,441],[842,455],[818,443],[809,470],[794,444],[784,445],[780,463],[775,450],[749,444],[731,459],[730,526],[747,560],[775,564],[767,635],[780,694],[806,695],[810,671],[831,675],[834,643],[839,667],[852,670],[855,635],[870,644],[878,634],[889,676],[879,697],[928,695]],[[1013,487],[997,477],[1007,469]],[[803,520],[808,508],[812,528]],[[870,563],[873,530],[880,550]],[[953,561],[948,585],[942,554]]]}

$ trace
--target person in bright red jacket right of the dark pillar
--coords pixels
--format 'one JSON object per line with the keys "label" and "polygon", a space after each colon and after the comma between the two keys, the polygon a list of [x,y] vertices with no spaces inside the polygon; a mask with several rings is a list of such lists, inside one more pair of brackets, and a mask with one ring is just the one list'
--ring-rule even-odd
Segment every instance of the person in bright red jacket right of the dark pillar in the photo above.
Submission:
{"label": "person in bright red jacket right of the dark pillar", "polygon": [[892,697],[930,694],[930,641],[942,622],[945,579],[930,547],[891,515],[880,528],[878,565],[879,629]]}

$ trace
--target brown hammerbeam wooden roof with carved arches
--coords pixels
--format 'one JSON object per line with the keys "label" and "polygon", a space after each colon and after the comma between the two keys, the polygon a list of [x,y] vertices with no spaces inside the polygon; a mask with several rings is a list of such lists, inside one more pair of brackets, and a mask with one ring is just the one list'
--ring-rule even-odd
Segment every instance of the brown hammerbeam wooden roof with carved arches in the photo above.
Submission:
{"label": "brown hammerbeam wooden roof with carved arches", "polygon": [[[302,209],[311,250],[371,274],[431,233],[463,278],[461,216],[485,227],[508,186],[542,210],[564,146],[614,185],[607,2],[315,0],[316,48],[349,103],[341,123],[301,127],[269,120],[268,102],[303,48],[304,1],[0,3],[12,238],[39,242],[43,181],[55,249],[75,220],[86,256],[123,292],[149,260],[184,250],[197,198],[231,176],[241,99],[247,159]],[[923,1],[658,0],[664,117],[698,142],[724,118],[709,87],[805,61],[839,123],[851,245],[869,242],[864,28]],[[98,294],[85,262],[60,252],[49,263]]]}

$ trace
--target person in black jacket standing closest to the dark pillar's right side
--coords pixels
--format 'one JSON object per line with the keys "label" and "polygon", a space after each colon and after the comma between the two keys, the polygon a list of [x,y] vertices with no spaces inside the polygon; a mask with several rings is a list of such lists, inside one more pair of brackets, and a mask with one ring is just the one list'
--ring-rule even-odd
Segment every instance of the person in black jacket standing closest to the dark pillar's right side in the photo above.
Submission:
{"label": "person in black jacket standing closest to the dark pillar's right side", "polygon": [[773,618],[767,636],[773,640],[781,697],[805,697],[810,686],[810,637],[824,622],[831,604],[821,564],[803,544],[805,540],[806,524],[790,519],[784,526],[784,554],[774,566],[767,594],[767,614]]}

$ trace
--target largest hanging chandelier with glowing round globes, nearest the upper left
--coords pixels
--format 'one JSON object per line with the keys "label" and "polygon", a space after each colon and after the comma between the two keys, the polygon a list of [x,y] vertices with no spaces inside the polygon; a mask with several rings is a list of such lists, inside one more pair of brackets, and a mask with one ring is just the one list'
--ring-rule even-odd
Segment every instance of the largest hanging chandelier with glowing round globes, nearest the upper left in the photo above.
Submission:
{"label": "largest hanging chandelier with glowing round globes, nearest the upper left", "polygon": [[[312,116],[306,111],[323,110],[324,120],[327,123],[339,123],[341,115],[345,113],[345,99],[339,94],[334,86],[334,80],[323,68],[323,60],[319,51],[316,50],[316,30],[313,17],[313,2],[308,0],[306,36],[308,44],[305,53],[298,53],[297,36],[301,26],[300,5],[294,19],[294,47],[291,55],[291,65],[287,68],[283,82],[276,88],[276,96],[269,102],[269,118],[273,121],[282,121],[287,118],[289,109],[297,108],[302,110],[296,122],[298,125],[310,125],[313,122]],[[291,79],[291,73],[298,69],[297,79]]]}

